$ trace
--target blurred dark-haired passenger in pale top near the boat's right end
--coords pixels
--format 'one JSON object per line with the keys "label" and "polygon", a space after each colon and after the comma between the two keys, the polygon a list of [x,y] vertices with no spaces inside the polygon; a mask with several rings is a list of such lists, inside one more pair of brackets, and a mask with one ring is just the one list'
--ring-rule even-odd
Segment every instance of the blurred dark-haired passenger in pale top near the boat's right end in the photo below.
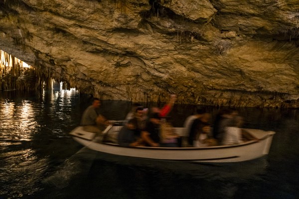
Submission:
{"label": "blurred dark-haired passenger in pale top near the boat's right end", "polygon": [[223,135],[223,145],[234,145],[242,142],[242,124],[243,119],[241,116],[235,116],[229,120]]}

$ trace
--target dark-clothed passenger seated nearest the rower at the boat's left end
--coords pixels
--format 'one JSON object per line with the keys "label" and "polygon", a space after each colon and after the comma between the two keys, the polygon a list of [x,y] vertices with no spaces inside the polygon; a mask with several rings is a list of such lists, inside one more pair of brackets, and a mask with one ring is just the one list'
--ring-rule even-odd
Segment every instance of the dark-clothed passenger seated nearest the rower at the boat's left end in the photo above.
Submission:
{"label": "dark-clothed passenger seated nearest the rower at the boat's left end", "polygon": [[140,130],[137,129],[137,119],[133,118],[122,127],[118,134],[118,143],[120,146],[142,146]]}

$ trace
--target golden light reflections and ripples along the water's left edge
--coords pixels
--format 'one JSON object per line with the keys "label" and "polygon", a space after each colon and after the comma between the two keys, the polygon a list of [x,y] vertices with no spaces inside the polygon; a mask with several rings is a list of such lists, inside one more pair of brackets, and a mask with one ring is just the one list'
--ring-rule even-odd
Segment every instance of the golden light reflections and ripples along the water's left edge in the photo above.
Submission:
{"label": "golden light reflections and ripples along the water's left edge", "polygon": [[39,111],[32,104],[29,100],[11,102],[0,98],[0,179],[5,182],[0,196],[22,198],[34,194],[48,168],[48,158],[38,157],[31,148],[39,128]]}

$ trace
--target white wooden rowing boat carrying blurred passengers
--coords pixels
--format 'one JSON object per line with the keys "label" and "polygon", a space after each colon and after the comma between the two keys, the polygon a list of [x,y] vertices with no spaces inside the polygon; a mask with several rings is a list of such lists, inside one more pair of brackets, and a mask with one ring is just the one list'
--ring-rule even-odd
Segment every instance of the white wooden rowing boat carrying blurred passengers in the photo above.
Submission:
{"label": "white wooden rowing boat carrying blurred passengers", "polygon": [[[175,128],[181,136],[184,128]],[[109,126],[105,133],[116,135],[120,126]],[[270,150],[274,131],[259,129],[244,129],[253,134],[259,141],[248,141],[238,145],[212,146],[205,148],[196,147],[122,147],[115,143],[100,143],[94,139],[95,134],[83,130],[82,126],[76,127],[70,132],[73,138],[89,149],[104,153],[129,156],[137,158],[149,158],[172,161],[214,162],[229,163],[253,160],[267,155]]]}

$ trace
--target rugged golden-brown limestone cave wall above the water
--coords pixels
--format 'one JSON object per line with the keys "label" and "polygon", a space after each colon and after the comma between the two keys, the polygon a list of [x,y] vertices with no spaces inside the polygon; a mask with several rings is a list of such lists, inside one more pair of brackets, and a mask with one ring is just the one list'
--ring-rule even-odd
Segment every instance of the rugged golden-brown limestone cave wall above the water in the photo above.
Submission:
{"label": "rugged golden-brown limestone cave wall above the water", "polygon": [[102,99],[299,107],[298,0],[0,0],[0,49]]}

